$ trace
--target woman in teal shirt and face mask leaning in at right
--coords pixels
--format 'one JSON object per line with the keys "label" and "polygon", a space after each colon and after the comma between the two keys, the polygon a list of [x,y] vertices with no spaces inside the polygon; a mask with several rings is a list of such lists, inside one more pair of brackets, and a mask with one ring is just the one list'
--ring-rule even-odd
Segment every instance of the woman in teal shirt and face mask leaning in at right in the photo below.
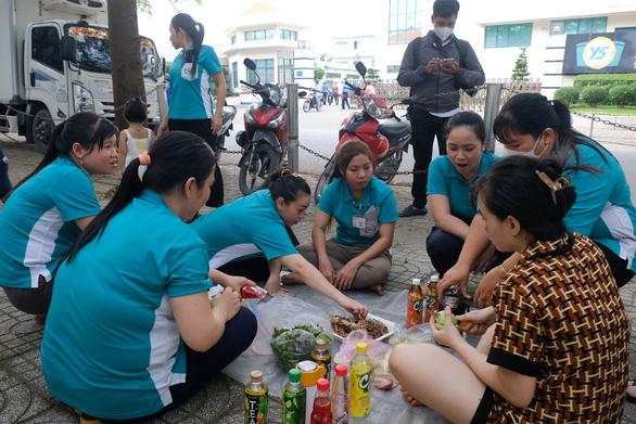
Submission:
{"label": "woman in teal shirt and face mask leaning in at right", "polygon": [[[636,210],[621,165],[598,142],[572,128],[570,111],[537,93],[521,93],[510,99],[495,119],[494,132],[509,154],[554,157],[565,164],[565,174],[576,189],[576,203],[565,215],[568,228],[588,236],[601,248],[619,287],[636,271]],[[527,200],[532,207],[533,200]],[[469,265],[487,245],[483,220],[471,226],[463,249],[440,290],[460,284],[466,293]],[[489,304],[495,285],[514,266],[511,255],[491,270],[480,283],[474,298],[478,306]]]}

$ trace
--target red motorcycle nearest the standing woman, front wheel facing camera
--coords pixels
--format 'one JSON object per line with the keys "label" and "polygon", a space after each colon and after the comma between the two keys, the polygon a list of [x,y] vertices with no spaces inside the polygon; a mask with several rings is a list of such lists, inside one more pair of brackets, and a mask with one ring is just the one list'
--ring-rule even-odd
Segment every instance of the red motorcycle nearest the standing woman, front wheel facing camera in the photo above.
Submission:
{"label": "red motorcycle nearest the standing woman, front wheel facing camera", "polygon": [[243,116],[245,130],[237,133],[237,144],[243,150],[239,160],[239,188],[241,193],[250,194],[260,190],[265,179],[278,169],[283,158],[288,115],[284,90],[274,83],[260,83],[256,64],[251,59],[245,59],[243,64],[256,74],[258,81],[241,80],[241,83],[260,97],[260,102],[253,103]]}

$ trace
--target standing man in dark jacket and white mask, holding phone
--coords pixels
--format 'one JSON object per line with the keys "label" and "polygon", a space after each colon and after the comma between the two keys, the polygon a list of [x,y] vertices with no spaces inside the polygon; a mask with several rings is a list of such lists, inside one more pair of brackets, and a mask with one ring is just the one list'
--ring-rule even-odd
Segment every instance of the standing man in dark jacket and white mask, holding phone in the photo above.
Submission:
{"label": "standing man in dark jacket and white mask, holding phone", "polygon": [[437,138],[440,154],[446,154],[444,129],[447,120],[460,111],[459,89],[484,83],[482,66],[468,41],[453,35],[459,3],[435,0],[431,22],[433,29],[406,47],[397,82],[410,87],[409,106],[414,146],[412,204],[400,217],[427,214],[428,171]]}

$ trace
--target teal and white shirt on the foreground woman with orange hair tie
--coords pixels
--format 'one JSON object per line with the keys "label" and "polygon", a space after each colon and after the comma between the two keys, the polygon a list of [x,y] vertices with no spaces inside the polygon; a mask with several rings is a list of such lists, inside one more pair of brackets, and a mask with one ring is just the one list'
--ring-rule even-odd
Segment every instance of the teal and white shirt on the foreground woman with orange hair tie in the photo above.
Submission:
{"label": "teal and white shirt on the foreground woman with orange hair tie", "polygon": [[169,299],[207,291],[205,245],[144,191],[63,262],[42,341],[51,395],[101,419],[145,416],[186,381]]}

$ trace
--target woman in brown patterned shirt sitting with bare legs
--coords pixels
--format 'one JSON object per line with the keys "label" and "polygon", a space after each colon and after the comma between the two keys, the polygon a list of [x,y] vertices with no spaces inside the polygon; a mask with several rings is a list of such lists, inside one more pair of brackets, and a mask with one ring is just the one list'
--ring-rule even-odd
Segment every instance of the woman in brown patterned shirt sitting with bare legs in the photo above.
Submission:
{"label": "woman in brown patterned shirt sitting with bare legs", "polygon": [[[600,248],[567,232],[574,189],[554,160],[511,156],[478,183],[491,241],[521,254],[493,306],[433,327],[433,345],[397,346],[390,365],[411,404],[455,423],[616,423],[623,413],[629,331]],[[450,321],[447,308],[446,322]]]}

